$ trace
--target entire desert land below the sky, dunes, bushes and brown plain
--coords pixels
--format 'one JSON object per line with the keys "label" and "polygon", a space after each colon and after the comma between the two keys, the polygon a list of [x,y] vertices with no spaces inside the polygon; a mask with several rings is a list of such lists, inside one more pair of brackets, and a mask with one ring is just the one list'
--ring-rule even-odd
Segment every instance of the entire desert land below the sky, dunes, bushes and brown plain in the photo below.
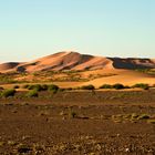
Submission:
{"label": "entire desert land below the sky, dunes, bushes and brown plain", "polygon": [[155,59],[1,63],[0,128],[2,155],[154,155]]}

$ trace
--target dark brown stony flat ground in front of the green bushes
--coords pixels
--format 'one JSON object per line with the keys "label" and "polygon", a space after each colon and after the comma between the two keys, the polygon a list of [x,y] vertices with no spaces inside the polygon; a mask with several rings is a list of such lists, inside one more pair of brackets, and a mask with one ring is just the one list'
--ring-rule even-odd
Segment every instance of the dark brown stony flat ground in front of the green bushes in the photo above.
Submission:
{"label": "dark brown stony flat ground in front of the green bushes", "polygon": [[155,91],[1,99],[0,154],[154,155]]}

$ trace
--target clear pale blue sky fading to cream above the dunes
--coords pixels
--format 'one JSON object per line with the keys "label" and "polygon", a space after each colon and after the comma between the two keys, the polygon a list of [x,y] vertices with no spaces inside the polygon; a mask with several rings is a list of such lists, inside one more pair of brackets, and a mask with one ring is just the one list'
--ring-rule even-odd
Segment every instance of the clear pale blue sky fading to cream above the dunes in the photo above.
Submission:
{"label": "clear pale blue sky fading to cream above the dunes", "polygon": [[155,58],[155,0],[0,0],[0,62],[63,50]]}

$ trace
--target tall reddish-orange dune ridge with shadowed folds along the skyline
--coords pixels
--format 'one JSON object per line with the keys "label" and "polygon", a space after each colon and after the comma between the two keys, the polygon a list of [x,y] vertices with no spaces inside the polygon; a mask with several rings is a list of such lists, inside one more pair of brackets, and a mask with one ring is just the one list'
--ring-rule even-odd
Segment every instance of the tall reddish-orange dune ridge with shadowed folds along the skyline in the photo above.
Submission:
{"label": "tall reddish-orange dune ridge with shadowed folds along the skyline", "polygon": [[154,59],[121,59],[103,58],[87,54],[80,54],[72,51],[59,52],[27,63],[3,63],[0,64],[0,72],[20,71],[62,71],[62,70],[99,70],[99,69],[155,69]]}

